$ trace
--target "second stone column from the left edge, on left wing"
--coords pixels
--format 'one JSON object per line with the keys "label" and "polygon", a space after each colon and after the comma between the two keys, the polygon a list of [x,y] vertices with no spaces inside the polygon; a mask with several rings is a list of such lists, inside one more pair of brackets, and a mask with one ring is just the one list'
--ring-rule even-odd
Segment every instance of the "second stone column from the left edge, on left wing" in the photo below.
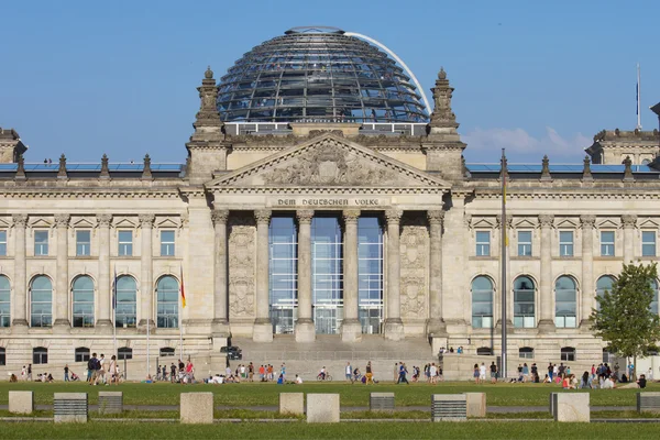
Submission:
{"label": "second stone column from the left edge, on left wing", "polygon": [[68,318],[68,226],[72,216],[68,213],[55,215],[55,227],[57,230],[57,274],[55,275],[55,319],[53,328],[55,332],[66,332],[70,329],[72,322]]}

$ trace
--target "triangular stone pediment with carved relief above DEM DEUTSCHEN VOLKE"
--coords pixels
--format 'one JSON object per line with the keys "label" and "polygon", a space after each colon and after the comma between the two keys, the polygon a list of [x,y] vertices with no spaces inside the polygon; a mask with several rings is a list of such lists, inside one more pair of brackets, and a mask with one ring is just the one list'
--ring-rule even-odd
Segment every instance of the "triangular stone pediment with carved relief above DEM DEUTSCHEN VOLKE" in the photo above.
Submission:
{"label": "triangular stone pediment with carved relief above DEM DEUTSCHEN VOLKE", "polygon": [[221,176],[222,187],[432,187],[447,182],[332,133],[286,148]]}

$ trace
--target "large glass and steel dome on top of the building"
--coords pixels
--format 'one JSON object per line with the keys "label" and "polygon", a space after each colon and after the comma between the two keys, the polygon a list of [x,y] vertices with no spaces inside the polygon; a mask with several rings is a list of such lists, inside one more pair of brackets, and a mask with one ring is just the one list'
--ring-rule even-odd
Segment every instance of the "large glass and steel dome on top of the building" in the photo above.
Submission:
{"label": "large glass and steel dome on top of the building", "polygon": [[410,77],[375,45],[336,28],[294,28],[221,78],[226,122],[427,122]]}

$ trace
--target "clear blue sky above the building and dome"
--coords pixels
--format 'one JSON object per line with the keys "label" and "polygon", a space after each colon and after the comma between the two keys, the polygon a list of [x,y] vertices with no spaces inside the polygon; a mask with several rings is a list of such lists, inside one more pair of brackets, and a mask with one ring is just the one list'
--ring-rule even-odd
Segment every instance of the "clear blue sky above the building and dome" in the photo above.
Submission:
{"label": "clear blue sky above the building and dome", "polygon": [[[61,4],[59,4],[61,3]],[[207,65],[220,77],[297,25],[376,38],[428,91],[440,66],[469,162],[581,162],[660,101],[660,1],[14,1],[0,25],[0,127],[28,162],[184,162]]]}

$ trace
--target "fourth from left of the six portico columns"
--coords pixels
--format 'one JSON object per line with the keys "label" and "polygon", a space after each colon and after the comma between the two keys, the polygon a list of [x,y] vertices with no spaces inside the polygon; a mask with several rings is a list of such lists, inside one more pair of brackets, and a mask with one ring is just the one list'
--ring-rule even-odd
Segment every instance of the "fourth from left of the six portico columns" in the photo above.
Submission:
{"label": "fourth from left of the six portico columns", "polygon": [[359,209],[343,211],[343,321],[341,323],[341,340],[356,342],[362,339],[362,324],[358,312],[358,220]]}

